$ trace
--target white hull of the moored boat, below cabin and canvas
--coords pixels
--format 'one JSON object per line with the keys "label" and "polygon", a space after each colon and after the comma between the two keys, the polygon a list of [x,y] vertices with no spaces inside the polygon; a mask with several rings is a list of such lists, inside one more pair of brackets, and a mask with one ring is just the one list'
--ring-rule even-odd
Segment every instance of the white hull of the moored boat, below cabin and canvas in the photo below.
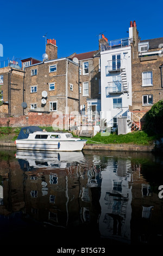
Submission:
{"label": "white hull of the moored boat, below cabin and canvas", "polygon": [[16,148],[21,150],[39,150],[39,151],[82,151],[86,140],[77,141],[35,141],[30,139],[16,140]]}

